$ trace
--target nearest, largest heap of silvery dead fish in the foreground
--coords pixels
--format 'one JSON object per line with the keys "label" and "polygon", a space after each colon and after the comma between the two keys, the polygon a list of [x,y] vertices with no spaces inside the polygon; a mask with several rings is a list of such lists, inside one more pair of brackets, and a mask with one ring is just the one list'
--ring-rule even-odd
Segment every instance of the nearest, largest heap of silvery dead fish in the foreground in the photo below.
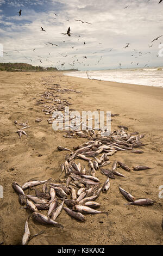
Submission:
{"label": "nearest, largest heap of silvery dead fish in the foreground", "polygon": [[[43,181],[31,180],[22,186],[17,184],[17,182],[12,183],[12,187],[18,193],[18,201],[21,205],[26,205],[24,208],[32,212],[32,217],[35,221],[63,228],[62,224],[56,222],[62,209],[78,221],[86,220],[84,214],[108,215],[108,212],[96,210],[101,204],[95,202],[95,200],[99,197],[101,191],[106,193],[109,190],[110,179],[115,179],[116,175],[124,177],[117,170],[118,167],[127,172],[130,172],[131,169],[125,163],[117,160],[111,164],[111,168],[106,168],[105,166],[111,163],[110,157],[117,151],[129,150],[131,153],[143,153],[142,150],[135,150],[135,148],[145,145],[141,142],[143,135],[139,135],[138,132],[127,134],[123,127],[120,130],[113,131],[108,137],[100,136],[98,132],[96,133],[93,130],[88,132],[90,140],[75,147],[73,151],[58,146],[58,150],[60,151],[66,150],[71,152],[66,155],[65,162],[61,164],[61,173],[64,175],[64,179],[58,179],[58,182],[52,181],[51,179]],[[88,166],[82,168],[80,162],[75,162],[75,160],[79,159],[85,160]],[[144,169],[149,169],[149,167],[134,167],[134,170]],[[96,172],[101,172],[106,176],[103,185],[96,178]],[[35,186],[42,184],[41,190],[35,188]],[[35,192],[34,195],[30,195],[29,191],[25,193],[29,188],[30,191]],[[119,190],[128,200],[129,205],[145,206],[154,203],[154,200],[148,198],[136,199],[122,187],[119,187]],[[47,210],[47,215],[41,214],[39,212],[41,210]],[[33,236],[30,235],[27,220],[22,245],[27,245],[31,237]]]}

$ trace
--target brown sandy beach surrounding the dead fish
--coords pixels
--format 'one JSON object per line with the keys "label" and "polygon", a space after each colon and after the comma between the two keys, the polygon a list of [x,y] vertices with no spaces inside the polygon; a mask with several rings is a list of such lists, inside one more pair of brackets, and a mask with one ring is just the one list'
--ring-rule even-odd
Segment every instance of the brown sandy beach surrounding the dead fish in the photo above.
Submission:
{"label": "brown sandy beach surrounding the dead fish", "polygon": [[[47,91],[47,87],[59,83],[61,88],[81,91],[81,94],[60,94],[73,103],[78,111],[108,110],[120,114],[112,118],[112,130],[118,125],[126,125],[129,131],[146,133],[142,139],[148,143],[143,147],[144,154],[118,151],[110,157],[126,162],[129,167],[147,165],[153,169],[127,173],[126,178],[116,176],[110,180],[107,194],[101,194],[97,202],[106,215],[86,216],[85,223],[72,220],[64,211],[57,221],[64,229],[41,225],[32,220],[29,228],[34,235],[41,230],[45,233],[34,237],[29,245],[161,245],[163,199],[159,199],[159,186],[163,185],[162,175],[162,118],[163,90],[161,88],[135,86],[115,82],[85,80],[62,76],[61,72],[0,72],[1,122],[0,122],[0,185],[4,188],[4,198],[0,199],[0,242],[5,245],[20,245],[24,232],[24,223],[29,212],[21,209],[18,196],[11,184],[19,184],[30,179],[57,179],[60,176],[60,164],[64,162],[66,151],[61,153],[57,145],[71,148],[84,143],[86,139],[68,139],[62,132],[54,131],[47,123],[48,115],[36,105],[36,100]],[[46,83],[46,84],[45,84]],[[41,123],[35,123],[42,117]],[[29,121],[27,137],[20,139],[15,133],[18,122]],[[17,126],[18,127],[18,126]],[[85,164],[85,162],[81,161]],[[103,182],[104,175],[96,172]],[[156,200],[153,206],[142,207],[124,205],[127,203],[118,191],[118,185],[136,197],[148,197]],[[99,223],[103,222],[103,223]]]}

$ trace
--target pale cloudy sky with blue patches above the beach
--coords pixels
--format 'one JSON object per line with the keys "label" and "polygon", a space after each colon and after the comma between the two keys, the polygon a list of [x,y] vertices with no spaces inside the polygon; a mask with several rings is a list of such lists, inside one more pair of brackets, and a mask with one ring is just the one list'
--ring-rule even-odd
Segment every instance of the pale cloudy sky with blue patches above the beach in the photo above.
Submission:
{"label": "pale cloudy sky with blue patches above the beach", "polygon": [[[79,70],[162,66],[162,13],[159,0],[0,0],[0,62]],[[68,27],[71,36],[62,34]]]}

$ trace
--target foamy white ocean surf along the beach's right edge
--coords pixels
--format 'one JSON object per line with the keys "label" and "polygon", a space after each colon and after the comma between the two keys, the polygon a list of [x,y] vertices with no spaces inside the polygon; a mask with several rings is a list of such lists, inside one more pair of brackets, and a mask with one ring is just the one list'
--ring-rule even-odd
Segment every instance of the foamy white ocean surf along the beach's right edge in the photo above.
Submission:
{"label": "foamy white ocean surf along the beach's right edge", "polygon": [[[163,87],[163,68],[93,70],[87,74],[103,81]],[[71,71],[64,75],[87,78],[86,71]]]}

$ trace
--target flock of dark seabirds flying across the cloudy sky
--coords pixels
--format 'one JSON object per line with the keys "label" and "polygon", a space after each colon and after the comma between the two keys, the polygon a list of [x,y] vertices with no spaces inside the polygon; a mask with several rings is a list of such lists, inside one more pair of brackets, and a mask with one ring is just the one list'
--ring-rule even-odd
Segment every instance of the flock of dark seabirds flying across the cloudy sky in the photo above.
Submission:
{"label": "flock of dark seabirds flying across the cloudy sky", "polygon": [[[149,1],[148,1],[148,2],[149,2]],[[162,0],[159,1],[159,4],[160,4],[161,2],[162,2]],[[129,8],[129,7],[130,7],[130,5],[127,5],[126,7],[124,7],[124,9]],[[20,11],[18,11],[18,14],[19,14],[19,16],[22,15],[22,9],[20,9]],[[55,14],[55,13],[53,13],[53,14],[54,14],[56,17],[58,16],[58,15]],[[54,18],[54,19],[56,19],[56,18]],[[69,21],[69,20],[66,20],[66,21]],[[81,23],[86,23],[86,24],[88,24],[88,25],[92,25],[92,23],[87,22],[87,21],[83,21],[83,20],[77,20],[77,19],[75,19],[74,21],[81,22]],[[43,28],[43,27],[41,27],[41,31],[46,33],[46,29]],[[68,27],[67,32],[61,33],[61,34],[71,36],[71,28]],[[76,35],[76,36],[79,36],[79,37],[80,37],[80,35]],[[160,35],[160,36],[158,36],[157,38],[155,38],[154,40],[152,40],[151,43],[153,43],[154,41],[156,41],[156,40],[158,40],[159,38],[161,38],[161,36],[162,36],[162,35]],[[79,40],[79,39],[78,39],[78,40]],[[65,42],[65,41],[63,41],[63,42]],[[102,43],[99,42],[99,44],[102,44]],[[53,42],[47,42],[45,45],[52,45],[52,46],[54,46],[54,47],[55,47],[55,46],[56,46],[56,47],[59,47],[59,45],[54,44]],[[86,45],[86,42],[85,42],[85,41],[84,41],[84,45]],[[123,48],[124,48],[124,49],[129,48],[130,45],[131,45],[131,44],[130,44],[129,42],[127,42],[127,43],[126,43],[126,46],[124,46]],[[151,48],[152,46],[153,46],[153,44],[149,45],[149,48]],[[71,47],[71,48],[74,49],[74,47]],[[35,51],[35,50],[36,50],[36,48],[33,49],[33,51]],[[108,50],[108,53],[111,52],[111,51],[113,51],[113,50],[114,50],[114,48],[111,48],[110,50]],[[17,51],[17,50],[15,50],[15,51]],[[76,51],[78,51],[78,48],[76,48]],[[136,59],[136,58],[140,58],[140,57],[142,57],[142,56],[146,56],[146,54],[151,54],[151,52],[142,53],[142,51],[135,50],[135,49],[133,49],[133,51],[134,51],[134,52],[131,54],[131,57],[134,57],[135,59]],[[20,51],[17,51],[17,52],[20,52]],[[97,52],[92,53],[92,54],[96,54],[96,53],[97,53]],[[4,54],[5,54],[5,56],[10,56],[7,52],[4,52]],[[59,54],[60,54],[60,56],[62,56],[62,57],[64,57],[64,58],[70,57],[67,53],[66,53],[66,54],[59,53]],[[53,64],[53,65],[54,65],[54,63],[52,62],[52,60],[49,59],[50,56],[51,56],[51,53],[48,53],[48,58],[46,58],[46,59],[43,59],[43,57],[41,57],[41,56],[37,56],[37,57],[39,57],[39,59],[36,59],[36,60],[39,60],[39,62],[40,62],[41,64],[46,61],[46,62],[48,62],[48,64]],[[77,58],[76,58],[76,57],[77,57]],[[156,55],[156,57],[158,57],[158,55]],[[24,57],[24,58],[30,60],[31,63],[33,62],[33,59],[32,59],[31,57],[30,57],[30,58]],[[72,68],[74,69],[74,66],[78,66],[79,64],[84,65],[84,66],[86,66],[86,65],[89,66],[89,65],[90,65],[90,64],[87,64],[86,62],[84,62],[84,61],[82,61],[82,60],[79,61],[79,57],[78,57],[76,54],[75,54],[74,56],[72,56],[72,58],[76,58],[76,59],[73,59],[73,61],[72,61],[72,62],[70,61],[70,63],[63,62],[63,61],[59,60],[59,61],[57,62],[56,68],[58,68],[58,69],[65,69],[65,65],[66,65],[66,64],[67,64],[67,65],[70,65],[70,66],[71,66],[71,69],[72,69]],[[83,56],[83,59],[87,59],[87,56]],[[95,63],[95,65],[98,65],[99,62],[101,62],[102,59],[103,59],[103,57],[101,56],[101,57],[97,60],[97,62]],[[149,60],[148,60],[148,62],[149,62]],[[133,61],[130,62],[130,65],[132,65],[132,64],[139,65],[139,61],[135,63],[134,60],[133,60]],[[144,67],[149,67],[148,65],[149,65],[149,63],[147,63]],[[118,68],[122,68],[122,63],[119,64]]]}

